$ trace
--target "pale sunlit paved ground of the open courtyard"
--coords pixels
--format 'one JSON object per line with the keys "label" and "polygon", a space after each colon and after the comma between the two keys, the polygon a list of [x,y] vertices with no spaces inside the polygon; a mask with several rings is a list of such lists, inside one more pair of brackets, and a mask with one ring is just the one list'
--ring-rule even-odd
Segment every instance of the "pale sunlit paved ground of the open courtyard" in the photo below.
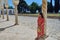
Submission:
{"label": "pale sunlit paved ground of the open courtyard", "polygon": [[[14,25],[15,16],[9,15],[9,20],[0,18],[0,40],[34,40],[37,30],[37,17],[19,16],[19,25]],[[60,21],[47,19],[46,40],[60,40]]]}

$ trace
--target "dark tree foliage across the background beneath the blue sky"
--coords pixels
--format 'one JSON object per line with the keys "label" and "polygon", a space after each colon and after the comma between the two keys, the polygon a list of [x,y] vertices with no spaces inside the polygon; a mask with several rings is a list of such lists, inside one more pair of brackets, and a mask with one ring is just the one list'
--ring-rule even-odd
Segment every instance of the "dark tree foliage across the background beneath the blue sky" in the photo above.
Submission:
{"label": "dark tree foliage across the background beneath the blue sky", "polygon": [[[52,5],[52,0],[50,0],[50,2],[47,2],[47,12],[53,13],[53,11],[55,10],[55,12],[57,13],[59,11],[59,0],[54,0],[55,1],[55,6]],[[11,7],[9,7],[11,8]],[[19,0],[19,4],[18,4],[18,12],[20,13],[26,13],[26,11],[29,11],[31,13],[36,13],[36,11],[41,12],[42,11],[42,5],[38,5],[36,2],[32,2],[31,5],[28,5],[26,3],[25,0]]]}

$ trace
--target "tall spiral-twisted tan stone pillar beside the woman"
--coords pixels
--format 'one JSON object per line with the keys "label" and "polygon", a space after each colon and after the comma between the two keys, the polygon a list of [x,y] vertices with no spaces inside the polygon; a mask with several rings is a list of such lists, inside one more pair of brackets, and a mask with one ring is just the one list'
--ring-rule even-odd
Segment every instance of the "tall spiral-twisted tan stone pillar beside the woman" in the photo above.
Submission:
{"label": "tall spiral-twisted tan stone pillar beside the woman", "polygon": [[46,35],[46,27],[47,27],[47,0],[42,0],[42,13],[43,13],[44,19],[45,19],[44,33]]}

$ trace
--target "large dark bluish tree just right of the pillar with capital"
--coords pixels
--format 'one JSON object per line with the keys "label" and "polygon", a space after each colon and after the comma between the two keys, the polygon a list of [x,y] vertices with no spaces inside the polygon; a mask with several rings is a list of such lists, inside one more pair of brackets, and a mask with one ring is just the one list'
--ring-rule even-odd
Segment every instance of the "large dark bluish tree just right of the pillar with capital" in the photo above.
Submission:
{"label": "large dark bluish tree just right of the pillar with capital", "polygon": [[28,4],[24,0],[20,0],[18,4],[18,12],[26,12]]}

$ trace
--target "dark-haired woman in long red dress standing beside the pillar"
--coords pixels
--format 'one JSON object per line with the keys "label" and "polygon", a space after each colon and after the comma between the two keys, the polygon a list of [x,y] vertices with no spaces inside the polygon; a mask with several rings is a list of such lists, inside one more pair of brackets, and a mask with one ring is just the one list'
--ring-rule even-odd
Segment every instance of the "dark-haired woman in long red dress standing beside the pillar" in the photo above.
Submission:
{"label": "dark-haired woman in long red dress standing beside the pillar", "polygon": [[37,38],[35,40],[39,40],[41,37],[44,36],[44,16],[43,16],[43,13],[39,13],[37,23],[38,23]]}

